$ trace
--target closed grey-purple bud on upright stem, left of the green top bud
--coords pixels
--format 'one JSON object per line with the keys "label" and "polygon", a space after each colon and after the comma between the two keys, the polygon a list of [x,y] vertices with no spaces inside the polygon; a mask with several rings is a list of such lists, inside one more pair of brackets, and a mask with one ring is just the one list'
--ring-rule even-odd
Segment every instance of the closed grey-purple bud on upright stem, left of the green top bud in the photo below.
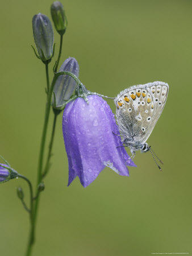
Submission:
{"label": "closed grey-purple bud on upright stem, left of the green top bud", "polygon": [[53,55],[53,28],[51,21],[44,14],[34,15],[32,19],[34,40],[40,59],[45,62],[51,60]]}

